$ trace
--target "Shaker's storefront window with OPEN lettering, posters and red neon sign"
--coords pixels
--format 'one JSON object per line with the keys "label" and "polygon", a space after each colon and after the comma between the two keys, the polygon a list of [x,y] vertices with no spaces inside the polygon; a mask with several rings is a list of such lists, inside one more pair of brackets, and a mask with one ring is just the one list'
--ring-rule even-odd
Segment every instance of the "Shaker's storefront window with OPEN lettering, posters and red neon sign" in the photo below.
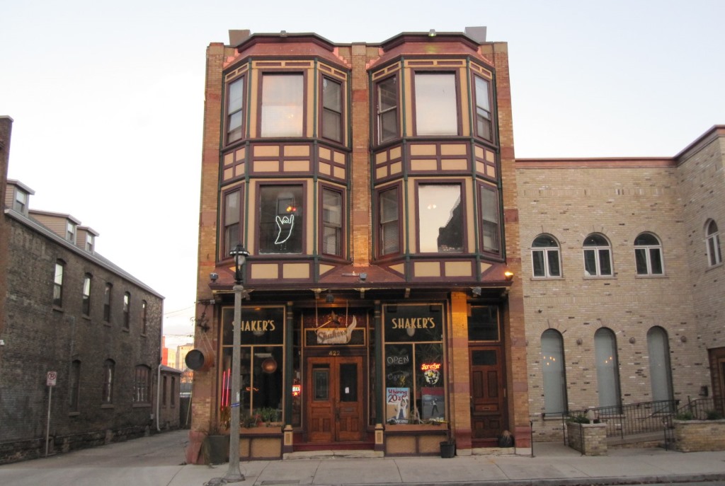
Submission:
{"label": "Shaker's storefront window with OPEN lettering, posters and red neon sign", "polygon": [[445,419],[443,306],[389,305],[385,324],[385,420]]}

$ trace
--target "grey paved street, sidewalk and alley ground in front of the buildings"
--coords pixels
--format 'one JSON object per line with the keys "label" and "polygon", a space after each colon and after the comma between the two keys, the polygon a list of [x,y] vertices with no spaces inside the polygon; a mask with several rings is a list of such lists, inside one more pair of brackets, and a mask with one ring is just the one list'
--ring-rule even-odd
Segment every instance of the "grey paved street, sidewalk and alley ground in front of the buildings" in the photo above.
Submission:
{"label": "grey paved street, sidewalk and alley ground in front of the buildings", "polygon": [[[227,464],[183,464],[187,431],[0,466],[2,486],[217,485]],[[290,485],[725,485],[725,452],[615,449],[581,456],[561,443],[537,443],[531,456],[326,458],[242,462],[242,486]]]}

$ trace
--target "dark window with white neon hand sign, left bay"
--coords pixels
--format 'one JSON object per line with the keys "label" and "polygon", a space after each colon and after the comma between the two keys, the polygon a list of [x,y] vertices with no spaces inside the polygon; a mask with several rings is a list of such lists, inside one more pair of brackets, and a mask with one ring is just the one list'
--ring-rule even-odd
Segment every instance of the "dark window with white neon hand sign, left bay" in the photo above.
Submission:
{"label": "dark window with white neon hand sign, left bay", "polygon": [[260,188],[260,254],[302,253],[302,185]]}

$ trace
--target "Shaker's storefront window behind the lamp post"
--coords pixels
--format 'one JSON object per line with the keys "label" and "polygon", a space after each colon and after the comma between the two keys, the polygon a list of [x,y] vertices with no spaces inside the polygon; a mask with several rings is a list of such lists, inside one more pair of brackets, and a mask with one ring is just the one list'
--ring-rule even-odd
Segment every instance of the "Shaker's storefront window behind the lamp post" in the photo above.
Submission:
{"label": "Shaker's storefront window behind the lamp post", "polygon": [[[231,406],[231,360],[234,309],[222,310],[223,357],[221,407]],[[241,313],[241,417],[274,409],[282,420],[284,397],[284,308],[244,309]]]}

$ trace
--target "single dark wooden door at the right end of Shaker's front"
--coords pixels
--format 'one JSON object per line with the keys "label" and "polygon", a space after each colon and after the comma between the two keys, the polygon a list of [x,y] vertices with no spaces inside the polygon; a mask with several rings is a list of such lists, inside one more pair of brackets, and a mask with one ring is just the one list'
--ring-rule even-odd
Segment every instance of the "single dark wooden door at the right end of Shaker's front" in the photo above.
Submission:
{"label": "single dark wooden door at the right end of Shaker's front", "polygon": [[473,439],[498,437],[505,427],[505,389],[501,348],[469,349]]}

